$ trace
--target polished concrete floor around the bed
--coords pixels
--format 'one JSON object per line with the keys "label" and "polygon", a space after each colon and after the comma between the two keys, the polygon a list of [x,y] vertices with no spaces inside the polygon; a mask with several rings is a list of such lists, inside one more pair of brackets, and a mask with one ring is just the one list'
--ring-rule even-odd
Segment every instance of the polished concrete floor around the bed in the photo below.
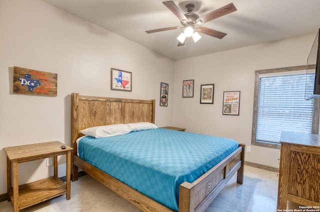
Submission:
{"label": "polished concrete floor around the bed", "polygon": [[[278,176],[275,172],[244,167],[244,184],[236,175],[205,212],[275,212]],[[11,202],[1,202],[0,212],[13,212]],[[138,208],[86,175],[71,182],[71,199],[49,200],[20,212],[141,212]]]}

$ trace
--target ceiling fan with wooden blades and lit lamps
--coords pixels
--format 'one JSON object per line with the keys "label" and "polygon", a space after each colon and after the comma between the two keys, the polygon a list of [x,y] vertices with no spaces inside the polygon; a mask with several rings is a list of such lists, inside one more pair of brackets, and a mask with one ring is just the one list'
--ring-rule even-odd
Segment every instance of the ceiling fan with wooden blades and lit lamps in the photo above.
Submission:
{"label": "ceiling fan with wooden blades and lit lamps", "polygon": [[[216,31],[210,28],[206,28],[203,26],[197,26],[201,25],[202,23],[208,22],[210,20],[213,20],[215,18],[221,17],[223,15],[226,15],[228,13],[236,11],[236,8],[233,3],[229,3],[225,6],[222,6],[212,12],[207,13],[206,15],[203,15],[202,17],[199,17],[199,15],[192,13],[192,10],[194,9],[194,4],[188,3],[185,5],[187,13],[183,13],[179,7],[172,1],[163,1],[162,2],[175,16],[177,16],[180,19],[180,22],[182,24],[181,26],[172,26],[172,27],[166,27],[166,28],[159,28],[159,29],[152,29],[145,31],[146,33],[153,33],[153,32],[159,32],[159,31],[166,31],[166,30],[172,30],[172,29],[179,29],[179,28],[185,28],[184,32],[181,33],[177,39],[179,40],[178,46],[184,45],[185,41],[188,37],[193,38],[193,41],[196,42],[201,38],[201,35],[199,33],[207,34],[212,37],[216,37],[219,39],[222,39],[226,33]],[[199,32],[199,33],[198,33]]]}

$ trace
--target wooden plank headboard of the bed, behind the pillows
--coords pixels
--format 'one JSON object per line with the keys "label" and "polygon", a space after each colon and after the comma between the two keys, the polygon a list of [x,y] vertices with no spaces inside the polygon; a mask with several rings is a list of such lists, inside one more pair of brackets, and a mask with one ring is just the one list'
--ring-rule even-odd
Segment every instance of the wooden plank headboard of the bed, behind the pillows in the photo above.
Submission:
{"label": "wooden plank headboard of the bed, behind the pillows", "polygon": [[71,146],[76,154],[79,131],[88,127],[151,122],[154,124],[155,100],[120,99],[71,94]]}

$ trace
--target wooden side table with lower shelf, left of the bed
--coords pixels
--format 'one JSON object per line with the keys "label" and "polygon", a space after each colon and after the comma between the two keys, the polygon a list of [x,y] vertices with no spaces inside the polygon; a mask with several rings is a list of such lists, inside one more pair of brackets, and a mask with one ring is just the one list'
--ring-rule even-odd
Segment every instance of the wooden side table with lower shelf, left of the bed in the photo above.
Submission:
{"label": "wooden side table with lower shelf, left of the bed", "polygon": [[[62,145],[65,149],[61,148]],[[71,147],[58,141],[4,148],[8,201],[12,201],[14,212],[64,194],[67,200],[70,199],[71,151]],[[65,184],[57,175],[57,156],[59,155],[66,155]],[[54,158],[53,177],[18,186],[18,163],[51,157]],[[13,176],[11,176],[11,162]],[[13,177],[13,187],[11,177]]]}

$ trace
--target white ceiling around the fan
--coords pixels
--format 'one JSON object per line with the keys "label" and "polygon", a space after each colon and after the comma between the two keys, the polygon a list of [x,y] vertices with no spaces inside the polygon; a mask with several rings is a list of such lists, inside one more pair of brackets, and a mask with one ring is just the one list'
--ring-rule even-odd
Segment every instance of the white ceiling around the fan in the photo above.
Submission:
{"label": "white ceiling around the fan", "polygon": [[[164,0],[43,0],[84,20],[139,43],[173,60],[305,35],[320,28],[320,0],[174,0],[193,3],[200,17],[233,2],[237,11],[202,26],[227,33],[222,39],[201,34],[177,47],[182,28],[147,34],[146,30],[181,26]],[[311,46],[310,46],[311,48]]]}

